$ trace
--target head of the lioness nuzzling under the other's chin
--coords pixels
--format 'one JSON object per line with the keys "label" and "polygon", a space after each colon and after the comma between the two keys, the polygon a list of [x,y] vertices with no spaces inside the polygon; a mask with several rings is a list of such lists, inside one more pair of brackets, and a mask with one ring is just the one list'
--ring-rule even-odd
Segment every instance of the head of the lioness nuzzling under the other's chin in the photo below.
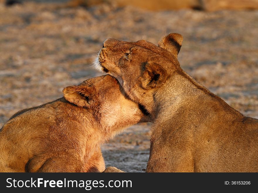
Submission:
{"label": "head of the lioness nuzzling under the other's chin", "polygon": [[125,94],[118,81],[110,75],[85,80],[63,90],[70,103],[90,110],[103,127],[119,129],[137,122],[147,122],[141,106]]}

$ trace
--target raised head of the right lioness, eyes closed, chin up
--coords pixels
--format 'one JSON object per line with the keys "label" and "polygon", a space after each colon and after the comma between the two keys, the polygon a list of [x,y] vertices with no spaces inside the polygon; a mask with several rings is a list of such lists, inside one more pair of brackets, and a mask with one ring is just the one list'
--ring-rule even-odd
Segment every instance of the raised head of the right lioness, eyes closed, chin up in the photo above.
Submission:
{"label": "raised head of the right lioness, eyes closed, chin up", "polygon": [[[95,65],[116,77],[130,98],[145,104],[146,98],[153,98],[153,93],[174,71],[181,69],[177,55],[182,41],[183,37],[178,33],[165,36],[158,46],[145,40],[126,42],[107,39]],[[153,101],[149,103],[154,104]],[[147,107],[147,110],[151,108]]]}

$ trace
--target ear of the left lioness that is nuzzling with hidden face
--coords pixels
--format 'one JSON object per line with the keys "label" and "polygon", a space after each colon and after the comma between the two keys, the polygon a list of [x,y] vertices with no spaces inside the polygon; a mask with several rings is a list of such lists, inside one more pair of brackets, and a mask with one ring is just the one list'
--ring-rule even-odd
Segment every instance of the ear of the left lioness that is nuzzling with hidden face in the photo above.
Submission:
{"label": "ear of the left lioness that is nuzzling with hidden face", "polygon": [[91,107],[95,104],[96,95],[92,87],[86,85],[67,86],[63,89],[66,100],[79,107]]}

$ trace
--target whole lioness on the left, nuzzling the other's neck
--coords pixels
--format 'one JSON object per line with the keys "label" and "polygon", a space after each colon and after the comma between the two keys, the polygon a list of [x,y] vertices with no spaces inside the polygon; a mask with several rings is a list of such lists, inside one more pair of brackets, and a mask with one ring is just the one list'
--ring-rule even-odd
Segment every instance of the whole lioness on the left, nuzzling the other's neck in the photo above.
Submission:
{"label": "whole lioness on the left, nuzzling the other's neck", "polygon": [[[110,75],[13,115],[0,130],[0,172],[103,172],[100,144],[148,117]],[[119,171],[119,170],[117,170]]]}

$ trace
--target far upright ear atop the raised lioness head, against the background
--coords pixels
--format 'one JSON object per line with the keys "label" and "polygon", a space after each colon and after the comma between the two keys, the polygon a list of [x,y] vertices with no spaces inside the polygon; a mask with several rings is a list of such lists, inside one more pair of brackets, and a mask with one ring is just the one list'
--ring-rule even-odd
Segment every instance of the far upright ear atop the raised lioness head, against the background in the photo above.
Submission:
{"label": "far upright ear atop the raised lioness head, against the background", "polygon": [[183,42],[183,36],[179,33],[170,33],[159,41],[159,47],[171,52],[176,58]]}

